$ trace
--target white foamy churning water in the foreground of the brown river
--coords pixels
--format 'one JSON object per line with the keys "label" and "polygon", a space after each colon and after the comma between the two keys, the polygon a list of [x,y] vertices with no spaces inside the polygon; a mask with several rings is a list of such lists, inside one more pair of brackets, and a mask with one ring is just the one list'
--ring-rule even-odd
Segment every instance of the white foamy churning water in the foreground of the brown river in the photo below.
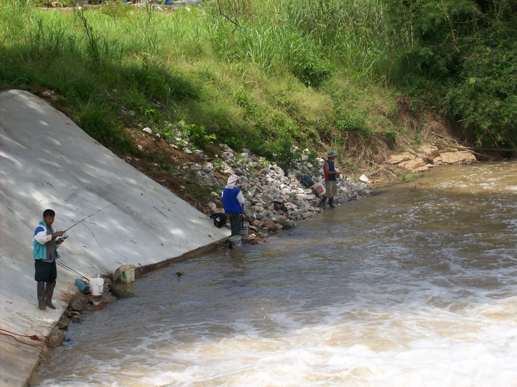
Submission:
{"label": "white foamy churning water in the foreground of the brown river", "polygon": [[78,380],[41,385],[517,385],[516,297],[456,312],[418,303],[384,309],[321,309],[321,323],[272,335],[249,330],[178,342],[156,333],[113,353],[109,363],[85,358],[89,381],[83,370]]}

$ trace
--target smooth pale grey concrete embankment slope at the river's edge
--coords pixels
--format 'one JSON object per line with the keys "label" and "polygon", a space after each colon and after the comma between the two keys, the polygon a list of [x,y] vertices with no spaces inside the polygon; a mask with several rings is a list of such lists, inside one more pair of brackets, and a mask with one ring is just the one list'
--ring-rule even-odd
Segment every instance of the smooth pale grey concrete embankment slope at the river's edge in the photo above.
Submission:
{"label": "smooth pale grey concrete embankment slope at the river's edge", "polygon": [[42,348],[5,334],[41,344],[20,335],[48,335],[78,291],[78,275],[58,265],[57,310],[37,308],[32,233],[46,208],[58,230],[93,214],[59,247],[62,261],[89,278],[229,235],[29,92],[0,93],[0,165],[0,385],[25,384]]}

